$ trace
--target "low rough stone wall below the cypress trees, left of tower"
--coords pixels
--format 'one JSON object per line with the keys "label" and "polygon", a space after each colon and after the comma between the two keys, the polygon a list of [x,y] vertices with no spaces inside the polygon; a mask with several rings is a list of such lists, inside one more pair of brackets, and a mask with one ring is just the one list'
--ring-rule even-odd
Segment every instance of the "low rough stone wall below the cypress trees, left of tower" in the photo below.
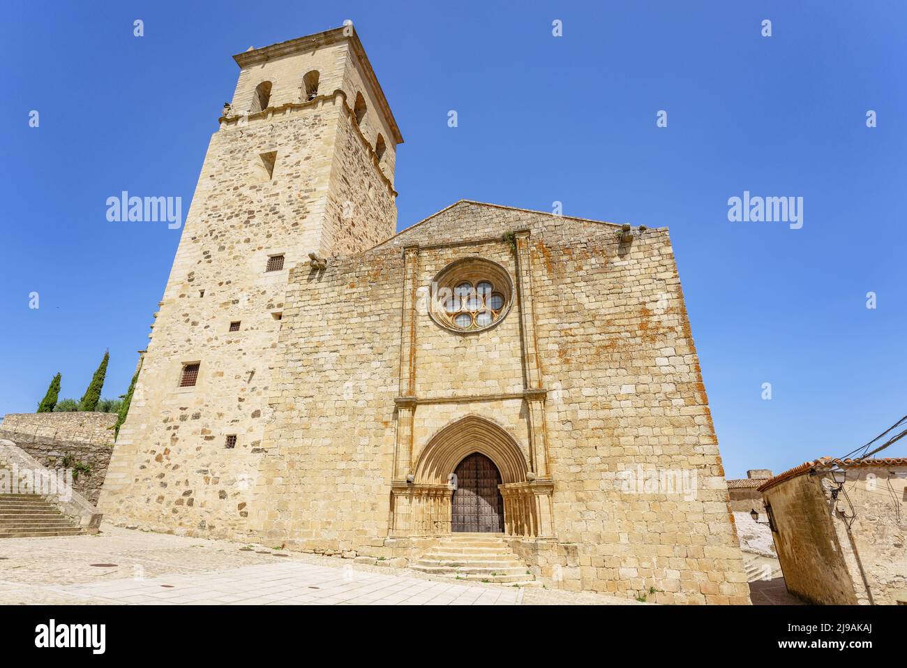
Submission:
{"label": "low rough stone wall below the cypress trees, left of tower", "polygon": [[73,488],[97,504],[113,451],[116,417],[116,413],[14,413],[0,421],[0,438],[13,441],[44,467],[76,469]]}

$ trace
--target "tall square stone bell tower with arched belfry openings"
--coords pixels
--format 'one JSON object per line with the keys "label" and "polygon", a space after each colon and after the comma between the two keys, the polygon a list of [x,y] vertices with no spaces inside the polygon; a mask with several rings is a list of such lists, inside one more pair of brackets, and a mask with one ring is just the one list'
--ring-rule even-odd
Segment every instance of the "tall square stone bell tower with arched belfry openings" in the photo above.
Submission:
{"label": "tall square stone bell tower with arched belfry openings", "polygon": [[352,25],[234,60],[99,502],[114,522],[246,531],[289,272],[395,233],[403,137]]}

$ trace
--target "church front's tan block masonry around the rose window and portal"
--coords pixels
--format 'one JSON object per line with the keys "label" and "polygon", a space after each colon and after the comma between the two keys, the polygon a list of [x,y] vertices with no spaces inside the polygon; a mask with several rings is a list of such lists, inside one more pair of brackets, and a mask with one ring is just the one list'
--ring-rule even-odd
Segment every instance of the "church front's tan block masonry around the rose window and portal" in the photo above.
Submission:
{"label": "church front's tan block masonry around the rose window and portal", "polygon": [[[404,246],[424,287],[481,257],[516,273],[507,231],[528,230],[554,481],[553,539],[514,539],[552,586],[663,603],[746,603],[746,575],[667,231],[459,202],[322,275],[295,271],[274,369],[255,530],[328,554],[390,531],[400,449]],[[424,244],[424,246],[423,246]],[[412,461],[434,434],[478,416],[529,459],[522,300],[499,326],[461,337],[414,319]],[[636,467],[687,472],[692,495],[622,488]],[[695,473],[694,473],[695,472]],[[552,542],[553,541],[553,542]],[[395,538],[395,545],[400,545]]]}

